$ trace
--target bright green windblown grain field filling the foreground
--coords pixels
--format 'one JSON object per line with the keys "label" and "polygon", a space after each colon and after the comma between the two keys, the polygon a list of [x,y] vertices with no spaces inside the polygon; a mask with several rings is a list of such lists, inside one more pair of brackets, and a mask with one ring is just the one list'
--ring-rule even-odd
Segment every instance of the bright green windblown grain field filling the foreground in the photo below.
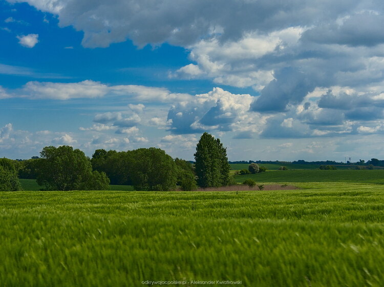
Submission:
{"label": "bright green windblown grain field filling the foreground", "polygon": [[2,192],[0,285],[384,285],[384,186],[294,185]]}

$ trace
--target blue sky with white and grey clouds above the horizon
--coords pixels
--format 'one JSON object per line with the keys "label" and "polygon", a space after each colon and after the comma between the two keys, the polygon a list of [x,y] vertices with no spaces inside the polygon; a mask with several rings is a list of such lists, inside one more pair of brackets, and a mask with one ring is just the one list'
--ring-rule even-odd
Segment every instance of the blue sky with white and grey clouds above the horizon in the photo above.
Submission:
{"label": "blue sky with white and grey clouds above the horizon", "polygon": [[0,0],[0,157],[384,158],[380,0]]}

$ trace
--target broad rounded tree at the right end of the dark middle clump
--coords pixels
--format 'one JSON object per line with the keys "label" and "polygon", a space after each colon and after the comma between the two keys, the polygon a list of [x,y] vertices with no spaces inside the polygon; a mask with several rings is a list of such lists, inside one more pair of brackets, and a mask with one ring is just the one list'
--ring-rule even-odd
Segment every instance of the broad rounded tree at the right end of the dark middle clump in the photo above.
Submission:
{"label": "broad rounded tree at the right end of the dark middle clump", "polygon": [[169,191],[176,189],[177,168],[172,157],[156,148],[137,149],[132,154],[130,171],[135,190]]}

